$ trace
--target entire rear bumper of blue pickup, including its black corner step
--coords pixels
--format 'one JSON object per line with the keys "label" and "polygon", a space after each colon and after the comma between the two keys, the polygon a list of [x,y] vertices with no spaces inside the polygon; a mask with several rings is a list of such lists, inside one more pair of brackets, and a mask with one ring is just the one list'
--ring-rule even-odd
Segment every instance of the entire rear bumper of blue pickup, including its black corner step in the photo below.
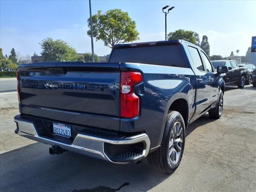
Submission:
{"label": "entire rear bumper of blue pickup, including its black corner step", "polygon": [[14,122],[17,125],[15,133],[20,136],[113,163],[140,160],[146,157],[150,150],[150,139],[145,133],[107,138],[102,134],[78,132],[72,144],[66,144],[40,136],[35,123],[26,118],[23,119],[20,115],[14,117]]}

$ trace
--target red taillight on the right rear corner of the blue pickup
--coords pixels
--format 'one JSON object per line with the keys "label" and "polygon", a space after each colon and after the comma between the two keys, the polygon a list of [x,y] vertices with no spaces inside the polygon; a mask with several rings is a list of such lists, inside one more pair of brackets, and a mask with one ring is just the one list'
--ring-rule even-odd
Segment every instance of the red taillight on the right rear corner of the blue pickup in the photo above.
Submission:
{"label": "red taillight on the right rear corner of the blue pickup", "polygon": [[134,86],[142,82],[140,72],[121,72],[120,116],[134,118],[140,112],[140,98],[134,92]]}

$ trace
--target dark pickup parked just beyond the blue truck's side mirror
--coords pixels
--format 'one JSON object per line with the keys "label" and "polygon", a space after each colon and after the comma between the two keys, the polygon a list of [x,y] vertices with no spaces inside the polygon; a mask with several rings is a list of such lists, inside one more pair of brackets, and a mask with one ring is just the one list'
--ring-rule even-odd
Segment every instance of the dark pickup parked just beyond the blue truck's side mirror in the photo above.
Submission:
{"label": "dark pickup parked just beyond the blue truck's side mirror", "polygon": [[240,68],[235,60],[214,60],[211,61],[214,68],[218,66],[227,66],[228,72],[223,77],[226,84],[235,83],[238,88],[244,88],[249,80],[249,71],[247,68]]}

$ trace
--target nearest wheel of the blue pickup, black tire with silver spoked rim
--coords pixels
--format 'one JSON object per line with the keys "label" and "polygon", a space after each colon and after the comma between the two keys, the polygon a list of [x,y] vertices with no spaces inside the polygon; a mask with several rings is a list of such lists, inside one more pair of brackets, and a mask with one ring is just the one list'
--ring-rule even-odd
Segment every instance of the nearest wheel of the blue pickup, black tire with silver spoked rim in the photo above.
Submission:
{"label": "nearest wheel of the blue pickup, black tire with silver spoked rim", "polygon": [[182,115],[177,111],[170,112],[166,118],[161,146],[148,155],[149,164],[159,172],[173,173],[178,168],[182,159],[185,137],[185,123]]}

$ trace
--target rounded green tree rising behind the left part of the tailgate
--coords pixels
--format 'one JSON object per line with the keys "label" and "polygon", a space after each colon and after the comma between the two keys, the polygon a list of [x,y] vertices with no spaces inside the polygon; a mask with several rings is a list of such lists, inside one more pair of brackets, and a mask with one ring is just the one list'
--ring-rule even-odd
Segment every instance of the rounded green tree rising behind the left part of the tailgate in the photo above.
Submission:
{"label": "rounded green tree rising behind the left part of the tailgate", "polygon": [[46,38],[39,44],[43,61],[77,61],[76,50],[63,40]]}

